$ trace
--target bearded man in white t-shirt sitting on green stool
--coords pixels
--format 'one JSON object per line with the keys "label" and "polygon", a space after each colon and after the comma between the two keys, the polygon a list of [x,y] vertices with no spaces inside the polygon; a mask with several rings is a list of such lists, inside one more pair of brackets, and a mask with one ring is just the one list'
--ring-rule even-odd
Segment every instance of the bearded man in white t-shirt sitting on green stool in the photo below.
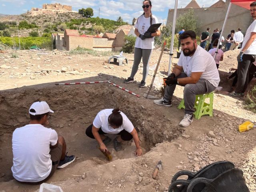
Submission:
{"label": "bearded man in white t-shirt sitting on green stool", "polygon": [[171,100],[176,84],[184,86],[185,115],[180,126],[187,127],[192,122],[196,95],[215,90],[220,82],[220,76],[214,58],[196,44],[194,31],[185,31],[180,35],[180,40],[182,53],[172,74],[166,78],[164,98],[154,100],[154,103],[172,106]]}

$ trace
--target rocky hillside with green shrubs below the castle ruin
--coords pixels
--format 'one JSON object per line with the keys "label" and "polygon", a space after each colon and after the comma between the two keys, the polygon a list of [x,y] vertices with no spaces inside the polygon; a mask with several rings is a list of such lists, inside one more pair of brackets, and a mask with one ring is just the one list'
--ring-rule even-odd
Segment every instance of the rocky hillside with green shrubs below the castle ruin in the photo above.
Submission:
{"label": "rocky hillside with green shrubs below the castle ruin", "polygon": [[[33,24],[35,27],[22,28],[19,26],[20,36],[29,36],[29,32],[38,31],[39,36],[44,33],[63,33],[65,28],[78,29],[80,34],[91,34],[92,27],[95,25],[102,25],[104,31],[113,31],[118,26],[127,24],[126,22],[116,22],[114,20],[108,20],[103,18],[84,18],[77,12],[64,12],[54,14],[41,14],[33,16],[32,14],[25,13],[21,15],[8,15],[1,18],[1,22],[6,23],[6,30],[8,30],[11,36],[17,36],[17,26],[14,22],[26,21],[28,24]],[[1,31],[0,31],[1,32]]]}

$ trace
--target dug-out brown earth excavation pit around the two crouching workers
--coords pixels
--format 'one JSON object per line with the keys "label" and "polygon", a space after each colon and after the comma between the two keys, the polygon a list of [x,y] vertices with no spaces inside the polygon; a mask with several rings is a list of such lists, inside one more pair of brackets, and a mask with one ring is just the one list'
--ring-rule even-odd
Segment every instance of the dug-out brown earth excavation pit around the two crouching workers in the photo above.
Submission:
{"label": "dug-out brown earth excavation pit around the two crouching workers", "polygon": [[[96,114],[105,108],[119,107],[128,116],[138,131],[144,153],[155,144],[170,141],[180,135],[177,126],[173,126],[170,119],[164,118],[163,111],[154,109],[152,103],[148,105],[145,98],[137,98],[108,83],[70,86],[48,84],[41,88],[30,86],[4,90],[0,94],[0,166],[4,173],[1,181],[13,179],[12,132],[28,124],[28,109],[33,102],[39,100],[48,102],[54,110],[48,127],[64,136],[68,154],[76,155],[74,164],[88,159],[98,164],[108,162],[98,149],[96,140],[85,134]],[[136,147],[132,141],[124,144],[120,152],[114,150],[113,144],[108,149],[113,160],[116,160],[134,157]]]}

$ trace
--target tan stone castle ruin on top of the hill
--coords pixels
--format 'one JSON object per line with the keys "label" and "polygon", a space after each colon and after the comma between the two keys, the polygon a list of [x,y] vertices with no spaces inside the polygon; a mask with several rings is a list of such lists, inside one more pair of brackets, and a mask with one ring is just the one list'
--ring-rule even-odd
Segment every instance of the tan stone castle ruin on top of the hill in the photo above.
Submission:
{"label": "tan stone castle ruin on top of the hill", "polygon": [[43,4],[42,8],[32,8],[29,13],[34,16],[38,14],[50,14],[52,12],[72,12],[72,6],[62,5],[59,3]]}

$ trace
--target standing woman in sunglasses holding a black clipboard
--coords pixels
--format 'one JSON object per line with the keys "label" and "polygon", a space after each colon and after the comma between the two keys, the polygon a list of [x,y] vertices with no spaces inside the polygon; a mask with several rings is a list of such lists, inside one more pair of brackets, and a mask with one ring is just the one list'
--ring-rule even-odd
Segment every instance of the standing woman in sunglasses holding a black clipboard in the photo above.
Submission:
{"label": "standing woman in sunglasses holding a black clipboard", "polygon": [[144,0],[142,6],[144,13],[138,17],[138,20],[135,24],[136,42],[134,47],[134,63],[132,66],[132,72],[128,79],[124,83],[134,82],[134,76],[138,71],[138,66],[142,58],[143,62],[143,78],[140,82],[139,87],[144,87],[146,82],[146,77],[148,76],[150,56],[154,48],[154,36],[160,36],[160,30],[156,32],[148,32],[148,28],[152,24],[158,23],[158,20],[151,13],[152,4],[150,0]]}

